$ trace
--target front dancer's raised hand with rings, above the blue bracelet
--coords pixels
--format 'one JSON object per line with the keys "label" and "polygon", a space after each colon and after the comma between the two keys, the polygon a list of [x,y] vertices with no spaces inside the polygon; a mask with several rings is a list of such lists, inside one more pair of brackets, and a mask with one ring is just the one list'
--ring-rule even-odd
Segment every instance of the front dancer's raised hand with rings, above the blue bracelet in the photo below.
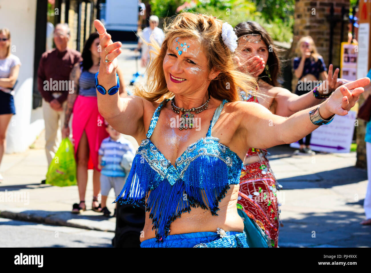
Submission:
{"label": "front dancer's raised hand with rings, above the blue bracelet", "polygon": [[[94,20],[94,26],[99,33],[99,43],[101,62],[99,65],[99,76],[113,74],[116,75],[116,68],[118,65],[117,56],[121,53],[121,42],[112,42],[111,35],[106,32],[106,29],[101,21]],[[106,62],[106,58],[111,62]],[[100,77],[99,77],[100,78]],[[98,80],[99,80],[98,78]]]}

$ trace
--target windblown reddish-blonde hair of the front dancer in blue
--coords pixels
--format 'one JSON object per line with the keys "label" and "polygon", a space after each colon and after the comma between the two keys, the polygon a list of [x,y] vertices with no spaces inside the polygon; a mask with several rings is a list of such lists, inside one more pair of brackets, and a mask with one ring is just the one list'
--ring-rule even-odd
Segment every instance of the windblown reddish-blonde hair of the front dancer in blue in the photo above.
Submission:
{"label": "windblown reddish-blonde hair of the front dancer in blue", "polygon": [[148,101],[161,101],[174,96],[174,93],[167,88],[162,63],[168,46],[175,38],[196,38],[209,60],[208,72],[210,73],[213,68],[220,71],[219,75],[210,82],[208,88],[210,96],[232,102],[240,101],[240,90],[258,95],[256,90],[259,87],[255,78],[238,71],[233,61],[234,53],[224,44],[221,36],[222,25],[223,21],[213,16],[184,12],[178,14],[170,25],[164,27],[165,39],[161,48],[154,40],[151,40],[151,43],[143,40],[147,46],[154,48],[150,51],[154,57],[152,59],[152,54],[150,54],[151,61],[147,68],[148,91],[136,86],[134,95]]}

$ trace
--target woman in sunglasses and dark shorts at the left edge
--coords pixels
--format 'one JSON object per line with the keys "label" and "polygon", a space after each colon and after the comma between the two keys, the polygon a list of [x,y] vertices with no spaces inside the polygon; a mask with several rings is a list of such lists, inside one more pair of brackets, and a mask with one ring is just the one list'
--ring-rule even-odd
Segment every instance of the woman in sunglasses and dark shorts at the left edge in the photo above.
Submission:
{"label": "woman in sunglasses and dark shorts at the left edge", "polygon": [[[21,65],[19,58],[10,53],[10,43],[9,29],[0,29],[0,163],[6,147],[6,131],[16,113],[13,87]],[[1,174],[0,182],[3,182]]]}

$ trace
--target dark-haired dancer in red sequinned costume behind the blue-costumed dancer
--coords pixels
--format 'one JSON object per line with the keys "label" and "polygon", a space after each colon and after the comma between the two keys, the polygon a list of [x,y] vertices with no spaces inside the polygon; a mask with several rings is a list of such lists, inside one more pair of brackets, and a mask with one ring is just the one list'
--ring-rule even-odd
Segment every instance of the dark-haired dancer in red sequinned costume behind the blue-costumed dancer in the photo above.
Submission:
{"label": "dark-haired dancer in red sequinned costume behind the blue-costumed dancer", "polygon": [[[298,96],[279,86],[278,49],[261,25],[252,21],[241,22],[234,30],[239,37],[236,63],[240,71],[254,75],[259,84],[259,93],[262,94],[261,97],[242,94],[243,100],[259,103],[273,114],[283,117],[322,102],[314,98],[311,92]],[[329,92],[342,84],[341,81],[337,82],[338,71],[336,69],[332,75],[330,65],[327,79]],[[321,94],[322,87],[319,87]],[[250,148],[240,178],[238,212],[244,218],[246,233],[252,234],[248,241],[252,247],[277,247],[278,244],[279,208],[276,191],[280,185],[270,169],[266,154],[265,149]]]}

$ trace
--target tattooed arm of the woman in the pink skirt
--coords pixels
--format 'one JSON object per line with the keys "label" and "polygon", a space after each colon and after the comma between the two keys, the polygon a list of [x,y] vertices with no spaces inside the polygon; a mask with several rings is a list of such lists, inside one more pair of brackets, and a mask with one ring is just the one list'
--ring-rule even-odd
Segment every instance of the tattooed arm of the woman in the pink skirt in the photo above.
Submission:
{"label": "tattooed arm of the woman in the pink skirt", "polygon": [[79,78],[80,78],[80,63],[77,63],[73,66],[69,80],[72,81],[73,84],[73,92],[69,93],[67,96],[67,107],[65,111],[65,122],[62,127],[62,137],[69,136],[69,120],[72,114],[73,105],[75,104],[75,100],[79,94]]}

